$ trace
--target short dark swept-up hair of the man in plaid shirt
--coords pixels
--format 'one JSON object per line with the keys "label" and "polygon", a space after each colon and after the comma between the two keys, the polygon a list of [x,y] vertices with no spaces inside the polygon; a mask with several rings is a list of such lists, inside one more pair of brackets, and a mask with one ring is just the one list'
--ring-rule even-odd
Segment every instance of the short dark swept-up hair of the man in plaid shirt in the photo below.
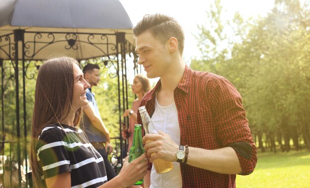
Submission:
{"label": "short dark swept-up hair of the man in plaid shirt", "polygon": [[184,31],[180,24],[172,17],[164,14],[147,14],[132,29],[134,36],[138,37],[142,33],[150,31],[154,38],[165,44],[171,37],[178,40],[178,48],[181,55],[184,49]]}

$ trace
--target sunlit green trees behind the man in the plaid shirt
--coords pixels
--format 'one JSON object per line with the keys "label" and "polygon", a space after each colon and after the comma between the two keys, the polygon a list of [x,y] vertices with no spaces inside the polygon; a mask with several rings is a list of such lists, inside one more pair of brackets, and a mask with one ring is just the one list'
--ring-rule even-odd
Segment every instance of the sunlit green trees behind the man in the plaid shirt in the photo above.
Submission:
{"label": "sunlit green trees behind the man in the plaid shirt", "polygon": [[276,0],[266,17],[244,20],[236,13],[233,20],[222,20],[220,1],[214,4],[210,23],[198,27],[202,59],[193,59],[191,67],[234,84],[252,132],[309,139],[309,5]]}

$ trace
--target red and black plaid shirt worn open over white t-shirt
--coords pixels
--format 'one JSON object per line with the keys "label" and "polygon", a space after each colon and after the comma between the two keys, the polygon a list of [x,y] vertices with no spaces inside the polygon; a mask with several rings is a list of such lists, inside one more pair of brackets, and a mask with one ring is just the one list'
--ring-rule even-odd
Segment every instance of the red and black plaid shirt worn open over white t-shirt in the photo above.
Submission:
{"label": "red and black plaid shirt worn open over white t-shirt", "polygon": [[[155,111],[155,95],[160,86],[159,80],[140,103],[140,106],[146,106],[151,117]],[[186,66],[174,90],[174,101],[178,110],[182,145],[204,149],[230,146],[239,158],[241,175],[254,171],[257,148],[241,95],[229,81],[212,73],[193,71]],[[140,114],[138,123],[142,124]],[[235,187],[236,175],[219,174],[182,163],[181,174],[183,188]]]}

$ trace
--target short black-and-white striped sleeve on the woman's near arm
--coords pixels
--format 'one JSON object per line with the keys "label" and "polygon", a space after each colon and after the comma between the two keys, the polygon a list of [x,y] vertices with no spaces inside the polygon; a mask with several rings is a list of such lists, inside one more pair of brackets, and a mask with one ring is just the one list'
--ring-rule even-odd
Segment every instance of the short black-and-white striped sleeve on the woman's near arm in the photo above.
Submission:
{"label": "short black-and-white striped sleeve on the woman's near arm", "polygon": [[37,156],[44,178],[71,172],[64,133],[54,127],[44,131],[37,143]]}

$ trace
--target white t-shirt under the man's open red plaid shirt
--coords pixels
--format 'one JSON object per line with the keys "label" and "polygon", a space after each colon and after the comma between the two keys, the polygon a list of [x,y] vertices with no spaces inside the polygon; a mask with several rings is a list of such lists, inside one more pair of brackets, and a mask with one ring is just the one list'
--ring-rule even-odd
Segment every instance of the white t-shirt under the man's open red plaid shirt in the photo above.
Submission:
{"label": "white t-shirt under the man's open red plaid shirt", "polygon": [[[156,98],[155,112],[151,119],[158,131],[168,134],[176,144],[180,145],[178,111],[174,102],[169,106],[163,107],[158,104]],[[153,166],[150,188],[182,188],[180,163],[173,162],[173,169],[163,174],[157,174]]]}

